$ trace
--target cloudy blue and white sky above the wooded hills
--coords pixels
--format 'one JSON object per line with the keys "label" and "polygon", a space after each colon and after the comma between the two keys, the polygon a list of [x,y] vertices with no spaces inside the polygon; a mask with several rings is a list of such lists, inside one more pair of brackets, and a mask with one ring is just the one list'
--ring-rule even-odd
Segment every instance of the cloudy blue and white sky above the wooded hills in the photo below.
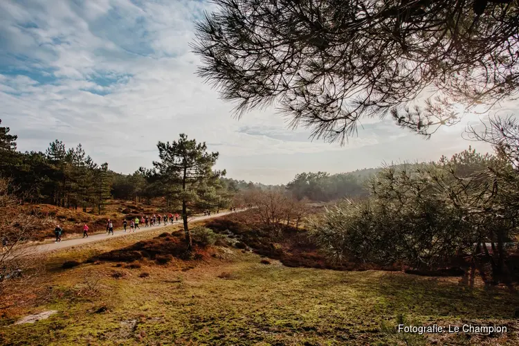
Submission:
{"label": "cloudy blue and white sky above the wooded hills", "polygon": [[[95,162],[131,173],[151,167],[156,143],[185,133],[219,152],[233,179],[288,183],[300,172],[349,172],[382,163],[437,160],[482,143],[462,139],[468,123],[430,140],[389,119],[363,120],[341,147],[289,129],[275,109],[239,120],[234,104],[194,72],[194,22],[212,3],[195,0],[1,0],[0,119],[22,152],[62,140]],[[510,113],[513,104],[497,109]]]}

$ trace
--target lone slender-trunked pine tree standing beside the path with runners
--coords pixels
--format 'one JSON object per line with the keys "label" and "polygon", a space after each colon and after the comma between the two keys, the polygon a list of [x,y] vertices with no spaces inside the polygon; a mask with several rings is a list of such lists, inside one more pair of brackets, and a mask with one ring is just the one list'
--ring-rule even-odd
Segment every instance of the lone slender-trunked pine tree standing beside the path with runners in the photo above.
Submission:
{"label": "lone slender-trunked pine tree standing beside the path with runners", "polygon": [[153,162],[154,169],[145,171],[146,176],[149,181],[160,181],[172,201],[181,202],[185,242],[190,251],[190,209],[218,206],[221,197],[217,185],[219,177],[226,172],[212,170],[219,155],[217,152],[206,152],[206,143],[197,144],[194,139],[188,140],[185,134],[180,134],[179,140],[172,143],[158,142],[157,147],[160,161]]}

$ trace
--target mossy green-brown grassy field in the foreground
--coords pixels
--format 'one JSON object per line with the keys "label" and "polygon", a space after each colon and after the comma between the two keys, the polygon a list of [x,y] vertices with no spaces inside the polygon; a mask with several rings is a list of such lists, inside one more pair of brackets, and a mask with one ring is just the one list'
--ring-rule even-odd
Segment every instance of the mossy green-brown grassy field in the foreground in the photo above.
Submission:
{"label": "mossy green-brown grassy field in the foreground", "polygon": [[[66,260],[83,261],[157,234],[50,255],[46,277],[31,289],[33,302],[0,320],[0,344],[405,345],[404,338],[409,345],[519,344],[519,296],[503,288],[469,289],[457,278],[288,268],[234,248],[162,266],[143,260],[133,268],[107,262],[60,268]],[[46,310],[58,312],[12,325]],[[413,325],[497,324],[508,333],[395,334],[401,315]]]}

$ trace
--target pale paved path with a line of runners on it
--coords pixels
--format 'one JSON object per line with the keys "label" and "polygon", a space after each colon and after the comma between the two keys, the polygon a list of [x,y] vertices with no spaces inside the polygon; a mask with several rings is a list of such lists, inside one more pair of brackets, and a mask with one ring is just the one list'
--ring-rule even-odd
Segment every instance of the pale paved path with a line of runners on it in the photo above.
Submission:
{"label": "pale paved path with a line of runners on it", "polygon": [[[239,212],[242,210],[236,210],[235,212]],[[210,215],[210,216],[200,216],[200,217],[191,217],[188,219],[188,222],[193,221],[201,221],[206,219],[213,219],[215,217],[222,217],[224,215],[231,214],[233,212],[220,212],[219,214]],[[173,223],[174,225],[182,225],[182,221],[176,221]],[[140,225],[139,225],[140,226]],[[82,244],[88,244],[93,242],[99,242],[100,240],[104,239],[112,239],[115,237],[124,237],[125,235],[131,235],[135,233],[143,233],[150,230],[157,230],[163,227],[169,227],[172,226],[171,224],[167,224],[166,226],[160,225],[160,226],[152,226],[152,227],[141,227],[140,230],[137,229],[135,232],[130,233],[129,231],[125,232],[124,230],[114,230],[113,235],[107,235],[107,233],[99,233],[96,235],[89,235],[87,238],[83,237],[75,237],[71,239],[63,239],[62,242],[57,243],[50,243],[50,244],[41,244],[41,245],[34,245],[34,246],[28,246],[28,248],[32,250],[34,249],[37,253],[46,253],[48,251],[54,251],[54,250],[60,250],[62,248],[69,248],[70,246],[77,246]],[[129,229],[129,228],[128,228]]]}

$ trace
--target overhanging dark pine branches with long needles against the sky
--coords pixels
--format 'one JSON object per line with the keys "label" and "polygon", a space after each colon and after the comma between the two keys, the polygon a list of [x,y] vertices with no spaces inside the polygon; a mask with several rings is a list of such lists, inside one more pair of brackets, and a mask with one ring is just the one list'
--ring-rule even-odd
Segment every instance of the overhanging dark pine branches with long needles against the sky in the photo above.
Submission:
{"label": "overhanging dark pine branches with long needles against the sky", "polygon": [[[328,141],[386,116],[430,136],[516,95],[519,10],[511,0],[221,0],[197,24],[199,75],[237,102],[274,102]],[[435,93],[423,108],[414,102]]]}

